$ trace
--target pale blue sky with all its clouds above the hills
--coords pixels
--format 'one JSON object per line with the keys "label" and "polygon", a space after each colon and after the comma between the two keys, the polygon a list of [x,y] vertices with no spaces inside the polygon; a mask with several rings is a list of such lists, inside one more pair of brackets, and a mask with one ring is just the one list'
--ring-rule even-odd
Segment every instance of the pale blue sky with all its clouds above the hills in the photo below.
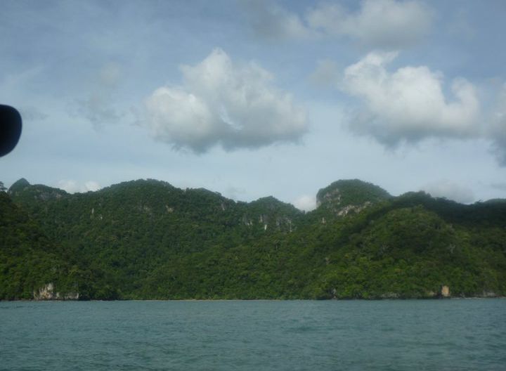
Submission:
{"label": "pale blue sky with all its clouds above the hills", "polygon": [[67,192],[155,178],[315,207],[506,198],[506,2],[25,1],[0,12],[0,181]]}

